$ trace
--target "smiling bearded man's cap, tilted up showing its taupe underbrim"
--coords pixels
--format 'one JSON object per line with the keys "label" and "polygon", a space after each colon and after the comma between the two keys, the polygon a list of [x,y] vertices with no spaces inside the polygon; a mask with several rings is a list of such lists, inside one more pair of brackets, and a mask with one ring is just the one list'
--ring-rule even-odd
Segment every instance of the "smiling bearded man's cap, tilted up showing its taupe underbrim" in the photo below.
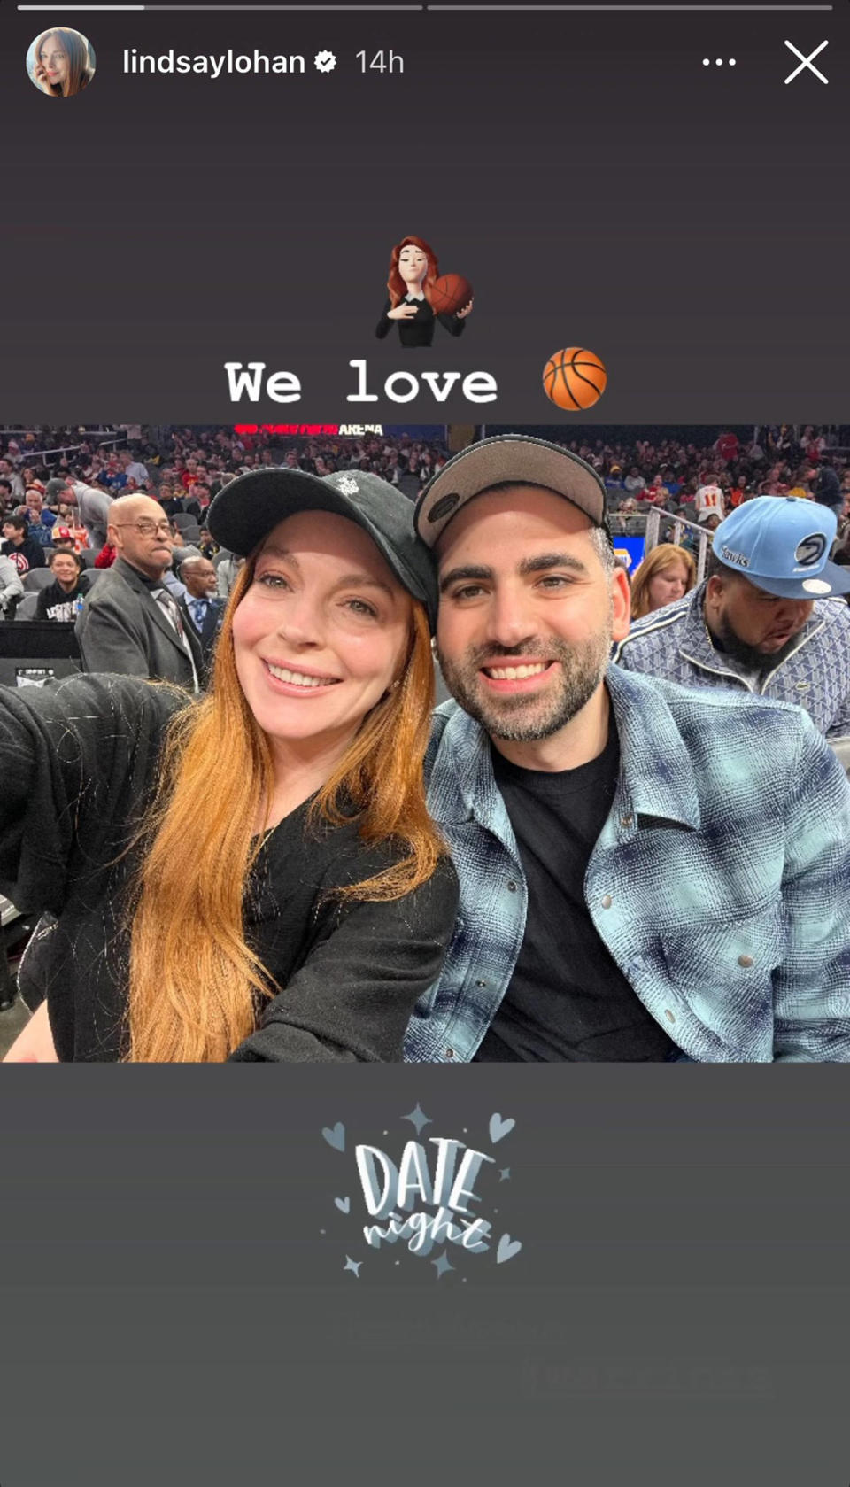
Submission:
{"label": "smiling bearded man's cap, tilted up showing its taupe underbrim", "polygon": [[493,434],[462,449],[428,480],[416,501],[416,531],[432,547],[453,516],[493,485],[539,485],[578,506],[611,540],[605,485],[593,465],[563,445],[531,434]]}

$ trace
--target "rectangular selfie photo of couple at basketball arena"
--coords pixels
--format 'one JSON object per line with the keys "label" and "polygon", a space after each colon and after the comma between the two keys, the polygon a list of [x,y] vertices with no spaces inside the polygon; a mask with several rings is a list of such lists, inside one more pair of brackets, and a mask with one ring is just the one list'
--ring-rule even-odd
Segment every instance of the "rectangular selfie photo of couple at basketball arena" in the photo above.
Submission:
{"label": "rectangular selfie photo of couple at basketball arena", "polygon": [[0,431],[9,1062],[850,1060],[850,428]]}

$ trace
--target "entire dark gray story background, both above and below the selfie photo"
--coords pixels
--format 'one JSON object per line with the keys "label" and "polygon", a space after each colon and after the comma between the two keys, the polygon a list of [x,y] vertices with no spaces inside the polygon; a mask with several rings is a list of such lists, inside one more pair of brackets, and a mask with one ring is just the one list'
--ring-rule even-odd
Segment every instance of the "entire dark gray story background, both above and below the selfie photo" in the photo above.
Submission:
{"label": "entire dark gray story background, both above and below the selfie photo", "polygon": [[[62,104],[24,73],[49,19],[98,57]],[[846,6],[236,27],[4,4],[0,28],[4,419],[440,418],[346,404],[366,355],[498,376],[498,404],[446,416],[569,427],[539,390],[566,343],[608,363],[603,422],[847,419]],[[783,86],[785,36],[832,39],[828,88]],[[125,79],[125,45],[340,67]],[[357,76],[380,45],[403,79]],[[462,342],[421,357],[373,338],[407,232],[476,286]],[[232,410],[226,358],[308,396]],[[846,1487],[846,1087],[828,1066],[7,1068],[0,1483]],[[352,1160],[319,1130],[398,1146],[416,1100],[426,1135],[517,1120],[489,1201],[523,1251],[441,1279],[386,1251],[355,1279],[333,1206]]]}

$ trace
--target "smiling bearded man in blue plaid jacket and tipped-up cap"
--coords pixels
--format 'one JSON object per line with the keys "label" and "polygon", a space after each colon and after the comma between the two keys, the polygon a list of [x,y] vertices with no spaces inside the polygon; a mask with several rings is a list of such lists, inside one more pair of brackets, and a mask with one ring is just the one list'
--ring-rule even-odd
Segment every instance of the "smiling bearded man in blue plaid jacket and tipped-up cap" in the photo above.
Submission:
{"label": "smiling bearded man in blue plaid jacket and tipped-up cap", "polygon": [[629,583],[559,445],[471,445],[416,529],[461,906],[406,1059],[850,1060],[850,784],[808,715],[609,663]]}

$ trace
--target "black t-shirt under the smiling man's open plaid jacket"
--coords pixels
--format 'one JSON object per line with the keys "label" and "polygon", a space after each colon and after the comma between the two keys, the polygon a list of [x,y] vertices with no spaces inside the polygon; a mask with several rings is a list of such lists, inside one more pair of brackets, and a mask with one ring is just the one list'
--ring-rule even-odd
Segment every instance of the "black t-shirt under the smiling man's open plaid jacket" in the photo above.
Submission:
{"label": "black t-shirt under the smiling man's open plaid jacket", "polygon": [[587,910],[584,876],[617,788],[614,720],[597,758],[548,773],[517,769],[495,748],[528,880],[522,949],[477,1060],[664,1062],[673,1044],[632,990]]}

